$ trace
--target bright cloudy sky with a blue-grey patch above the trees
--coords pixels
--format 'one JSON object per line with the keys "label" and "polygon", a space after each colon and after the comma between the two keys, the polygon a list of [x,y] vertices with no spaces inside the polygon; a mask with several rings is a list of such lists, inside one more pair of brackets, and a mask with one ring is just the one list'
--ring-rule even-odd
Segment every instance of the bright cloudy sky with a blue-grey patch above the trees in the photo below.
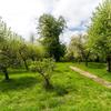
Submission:
{"label": "bright cloudy sky with a blue-grey patch above the trees", "polygon": [[12,31],[28,39],[31,33],[37,33],[40,16],[62,16],[68,28],[61,34],[61,40],[68,42],[71,36],[85,32],[92,12],[100,2],[102,0],[0,0],[0,17]]}

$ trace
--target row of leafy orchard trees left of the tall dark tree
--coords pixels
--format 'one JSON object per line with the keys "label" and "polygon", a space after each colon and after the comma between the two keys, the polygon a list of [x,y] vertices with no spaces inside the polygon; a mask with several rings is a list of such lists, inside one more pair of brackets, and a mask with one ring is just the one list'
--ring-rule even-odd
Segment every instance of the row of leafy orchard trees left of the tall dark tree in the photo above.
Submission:
{"label": "row of leafy orchard trees left of the tall dark tree", "polygon": [[24,41],[0,20],[0,71],[4,73],[6,80],[9,80],[9,68],[24,65],[29,70],[30,61],[39,60],[43,56],[43,47]]}

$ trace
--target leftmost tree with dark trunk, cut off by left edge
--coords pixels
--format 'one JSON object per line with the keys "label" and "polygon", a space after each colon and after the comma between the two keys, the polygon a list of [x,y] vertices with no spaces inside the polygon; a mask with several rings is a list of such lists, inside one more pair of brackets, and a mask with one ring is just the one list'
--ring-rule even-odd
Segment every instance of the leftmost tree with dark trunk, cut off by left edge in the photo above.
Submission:
{"label": "leftmost tree with dark trunk, cut off by left edge", "polygon": [[12,44],[12,37],[11,30],[0,20],[0,70],[4,73],[6,80],[9,80],[8,68],[17,64],[17,53]]}

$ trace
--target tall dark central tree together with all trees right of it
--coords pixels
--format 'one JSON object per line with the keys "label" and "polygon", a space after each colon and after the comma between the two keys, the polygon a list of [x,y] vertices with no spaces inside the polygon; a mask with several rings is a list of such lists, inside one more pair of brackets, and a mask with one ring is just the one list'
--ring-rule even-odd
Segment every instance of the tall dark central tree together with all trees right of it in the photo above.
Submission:
{"label": "tall dark central tree together with all trees right of it", "polygon": [[39,34],[41,43],[46,47],[49,57],[60,61],[64,54],[64,60],[70,58],[75,61],[107,62],[108,71],[111,71],[111,0],[101,3],[91,18],[87,34],[78,34],[71,38],[67,48],[60,43],[59,36],[65,28],[62,17],[56,19],[51,14],[43,14],[39,19]]}

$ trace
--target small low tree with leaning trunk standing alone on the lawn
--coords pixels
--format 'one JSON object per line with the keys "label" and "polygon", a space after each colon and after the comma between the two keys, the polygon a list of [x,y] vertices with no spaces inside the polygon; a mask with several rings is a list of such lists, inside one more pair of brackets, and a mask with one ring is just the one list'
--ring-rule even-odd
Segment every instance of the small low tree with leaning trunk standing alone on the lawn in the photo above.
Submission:
{"label": "small low tree with leaning trunk standing alone on the lawn", "polygon": [[44,80],[44,87],[48,89],[52,88],[52,84],[50,83],[50,78],[54,68],[56,64],[53,59],[42,59],[39,61],[33,61],[30,65],[31,71],[39,72],[42,75]]}

